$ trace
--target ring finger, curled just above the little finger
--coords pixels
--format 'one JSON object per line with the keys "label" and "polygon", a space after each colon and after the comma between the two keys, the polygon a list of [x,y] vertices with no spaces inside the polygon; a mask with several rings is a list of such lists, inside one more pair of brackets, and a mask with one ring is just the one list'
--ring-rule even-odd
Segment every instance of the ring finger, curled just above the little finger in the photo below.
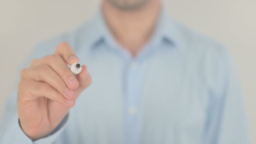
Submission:
{"label": "ring finger, curled just above the little finger", "polygon": [[23,75],[31,80],[43,81],[59,91],[66,99],[73,99],[75,91],[67,87],[64,80],[48,65],[40,65],[27,69]]}

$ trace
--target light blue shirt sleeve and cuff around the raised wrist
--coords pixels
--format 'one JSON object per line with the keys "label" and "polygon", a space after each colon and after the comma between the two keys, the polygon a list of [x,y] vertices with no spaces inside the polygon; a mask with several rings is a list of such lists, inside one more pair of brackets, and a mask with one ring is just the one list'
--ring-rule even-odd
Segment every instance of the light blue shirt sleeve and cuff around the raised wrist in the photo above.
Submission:
{"label": "light blue shirt sleeve and cuff around the raised wrist", "polygon": [[51,133],[42,139],[32,141],[22,131],[19,125],[19,117],[17,113],[17,96],[11,96],[6,104],[3,120],[0,125],[0,144],[52,144],[67,127],[69,115],[67,115],[60,125]]}

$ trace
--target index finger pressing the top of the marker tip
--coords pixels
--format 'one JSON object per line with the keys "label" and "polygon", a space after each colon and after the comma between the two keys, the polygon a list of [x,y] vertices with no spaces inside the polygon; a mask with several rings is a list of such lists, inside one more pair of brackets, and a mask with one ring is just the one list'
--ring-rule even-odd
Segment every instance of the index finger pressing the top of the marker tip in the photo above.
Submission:
{"label": "index finger pressing the top of the marker tip", "polygon": [[75,55],[73,48],[66,42],[61,42],[57,47],[55,54],[61,56],[64,61],[71,65],[75,62],[79,62],[78,57]]}

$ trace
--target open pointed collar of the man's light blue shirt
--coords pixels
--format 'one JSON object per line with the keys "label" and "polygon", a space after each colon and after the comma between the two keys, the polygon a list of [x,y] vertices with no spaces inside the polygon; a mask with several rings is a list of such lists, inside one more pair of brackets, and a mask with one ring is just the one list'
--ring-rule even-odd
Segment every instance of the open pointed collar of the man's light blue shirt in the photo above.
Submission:
{"label": "open pointed collar of the man's light blue shirt", "polygon": [[[155,43],[168,43],[177,47],[181,40],[177,27],[176,22],[169,16],[166,9],[162,8],[152,40],[155,40]],[[89,48],[95,48],[100,43],[118,46],[107,28],[101,8],[89,22],[88,28],[90,28],[87,31]]]}

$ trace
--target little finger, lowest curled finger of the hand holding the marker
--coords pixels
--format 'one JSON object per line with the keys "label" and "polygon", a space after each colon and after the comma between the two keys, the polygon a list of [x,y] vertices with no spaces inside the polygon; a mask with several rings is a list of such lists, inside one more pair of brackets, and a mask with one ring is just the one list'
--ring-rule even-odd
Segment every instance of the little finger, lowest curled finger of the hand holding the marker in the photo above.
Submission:
{"label": "little finger, lowest curled finger of the hand holding the marker", "polygon": [[33,101],[39,97],[46,97],[52,101],[57,101],[67,107],[73,107],[75,101],[65,99],[59,91],[53,88],[48,83],[37,81],[21,81],[19,86],[19,99],[22,101]]}

